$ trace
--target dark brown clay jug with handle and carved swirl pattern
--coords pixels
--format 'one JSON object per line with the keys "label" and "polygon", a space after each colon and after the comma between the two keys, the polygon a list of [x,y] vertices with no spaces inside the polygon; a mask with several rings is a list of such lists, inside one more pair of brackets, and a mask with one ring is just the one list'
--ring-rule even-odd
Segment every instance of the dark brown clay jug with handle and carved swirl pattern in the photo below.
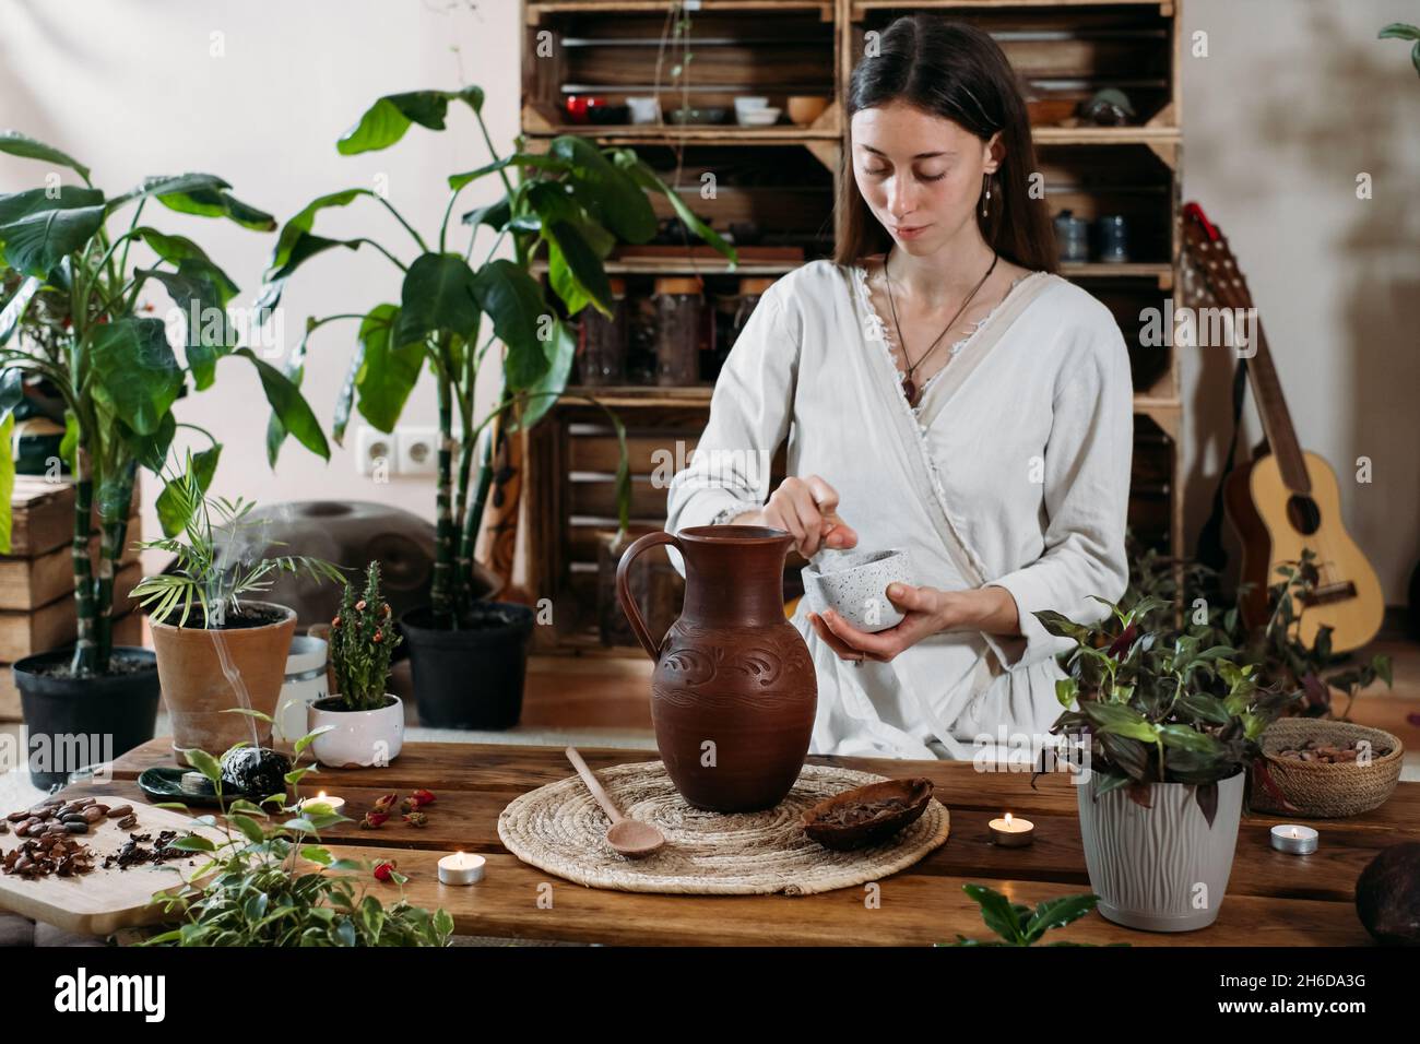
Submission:
{"label": "dark brown clay jug with handle and carved swirl pattern", "polygon": [[[630,594],[630,562],[672,544],[686,561],[680,616],[659,642]],[[649,533],[616,567],[616,597],[656,669],[650,717],[676,790],[696,808],[772,808],[798,780],[818,679],[784,616],[784,557],[794,537],[763,526]]]}

